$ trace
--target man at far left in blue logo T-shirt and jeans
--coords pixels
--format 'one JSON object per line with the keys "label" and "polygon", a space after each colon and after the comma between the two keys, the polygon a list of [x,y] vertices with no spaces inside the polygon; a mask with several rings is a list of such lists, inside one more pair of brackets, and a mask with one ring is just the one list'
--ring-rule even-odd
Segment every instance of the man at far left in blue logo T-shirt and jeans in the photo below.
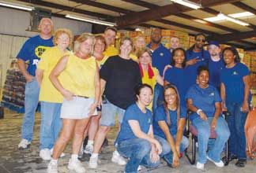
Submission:
{"label": "man at far left in blue logo T-shirt and jeans", "polygon": [[[54,46],[51,32],[53,23],[49,18],[42,18],[39,24],[40,35],[28,39],[17,54],[17,64],[24,75],[27,83],[25,85],[24,119],[21,127],[21,142],[19,149],[28,149],[33,136],[35,112],[38,105],[40,86],[36,80],[36,65],[40,61],[42,53],[48,47]],[[28,68],[26,69],[26,61]]]}

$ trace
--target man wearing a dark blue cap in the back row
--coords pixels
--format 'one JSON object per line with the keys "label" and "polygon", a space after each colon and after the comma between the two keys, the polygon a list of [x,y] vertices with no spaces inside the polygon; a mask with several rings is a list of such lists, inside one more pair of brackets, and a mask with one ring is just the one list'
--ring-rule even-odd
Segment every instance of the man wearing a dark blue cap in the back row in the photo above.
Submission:
{"label": "man wearing a dark blue cap in the back row", "polygon": [[209,58],[209,83],[220,91],[220,70],[224,68],[223,58],[220,57],[220,44],[210,41],[208,46]]}

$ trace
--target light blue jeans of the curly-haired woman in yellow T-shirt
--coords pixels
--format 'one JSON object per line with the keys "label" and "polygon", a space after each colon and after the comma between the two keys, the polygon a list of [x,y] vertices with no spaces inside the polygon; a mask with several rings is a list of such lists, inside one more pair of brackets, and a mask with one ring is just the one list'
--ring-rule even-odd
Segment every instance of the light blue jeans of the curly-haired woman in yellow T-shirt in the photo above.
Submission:
{"label": "light blue jeans of the curly-haired woman in yellow T-shirt", "polygon": [[40,149],[51,149],[62,128],[62,104],[41,101]]}

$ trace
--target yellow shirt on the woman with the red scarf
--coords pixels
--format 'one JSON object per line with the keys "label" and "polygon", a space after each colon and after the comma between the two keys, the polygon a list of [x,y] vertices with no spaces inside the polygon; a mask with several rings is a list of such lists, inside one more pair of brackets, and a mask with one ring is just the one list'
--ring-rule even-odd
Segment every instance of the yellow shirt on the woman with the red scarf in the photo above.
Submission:
{"label": "yellow shirt on the woman with the red scarf", "polygon": [[[159,74],[159,72],[158,72],[158,70],[156,68],[153,68],[153,67],[152,67],[152,71],[154,73],[154,75],[152,76],[152,79],[149,79],[148,71],[143,71],[143,77],[142,77],[141,81],[142,81],[142,83],[146,83],[149,86],[151,86],[152,90],[154,90],[154,87],[156,85],[156,76]],[[152,111],[152,101],[147,106],[147,108]]]}

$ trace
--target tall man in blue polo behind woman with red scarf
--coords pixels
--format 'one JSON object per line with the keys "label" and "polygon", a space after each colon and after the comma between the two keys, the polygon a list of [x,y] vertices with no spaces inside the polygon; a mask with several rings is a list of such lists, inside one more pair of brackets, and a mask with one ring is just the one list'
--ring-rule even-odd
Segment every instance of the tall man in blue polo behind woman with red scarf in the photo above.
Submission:
{"label": "tall man in blue polo behind woman with red scarf", "polygon": [[[162,76],[164,67],[171,64],[171,52],[163,44],[161,44],[162,34],[160,28],[154,28],[151,34],[151,42],[148,47],[152,52],[152,66],[157,68],[159,74]],[[154,98],[152,103],[153,111],[156,107],[163,102],[164,97],[163,88],[159,84],[156,84],[154,90]]]}

